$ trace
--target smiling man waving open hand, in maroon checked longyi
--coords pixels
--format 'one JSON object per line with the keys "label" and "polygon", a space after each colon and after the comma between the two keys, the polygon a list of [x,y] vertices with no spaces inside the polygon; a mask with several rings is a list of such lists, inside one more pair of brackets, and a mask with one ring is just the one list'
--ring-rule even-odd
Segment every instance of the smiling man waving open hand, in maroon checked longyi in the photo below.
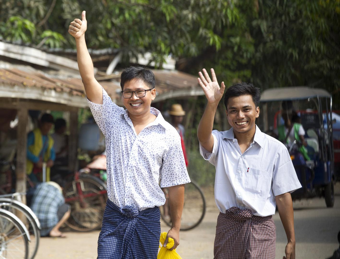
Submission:
{"label": "smiling man waving open hand, in maroon checked longyi", "polygon": [[[204,74],[204,75],[203,75]],[[200,152],[216,167],[215,201],[220,210],[214,258],[275,258],[272,215],[277,205],[287,235],[283,258],[295,258],[293,206],[290,193],[301,188],[287,148],[255,124],[261,93],[252,84],[229,87],[224,96],[232,128],[212,131],[225,85],[205,69],[199,84],[208,104],[198,127]]]}

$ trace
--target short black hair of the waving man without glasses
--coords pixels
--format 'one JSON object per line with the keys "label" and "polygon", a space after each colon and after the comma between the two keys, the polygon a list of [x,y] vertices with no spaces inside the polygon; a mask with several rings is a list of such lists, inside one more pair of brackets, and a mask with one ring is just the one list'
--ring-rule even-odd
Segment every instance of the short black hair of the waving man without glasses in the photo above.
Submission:
{"label": "short black hair of the waving man without glasses", "polygon": [[252,96],[255,107],[257,107],[261,99],[261,91],[259,88],[255,87],[253,84],[245,82],[232,85],[224,94],[225,109],[228,109],[227,105],[229,98],[248,94]]}

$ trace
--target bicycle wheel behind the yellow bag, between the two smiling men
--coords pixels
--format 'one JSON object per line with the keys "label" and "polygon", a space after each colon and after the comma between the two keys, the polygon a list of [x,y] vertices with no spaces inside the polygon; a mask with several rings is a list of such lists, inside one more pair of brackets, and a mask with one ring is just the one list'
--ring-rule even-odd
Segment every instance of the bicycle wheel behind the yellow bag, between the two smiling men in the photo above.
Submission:
{"label": "bicycle wheel behind the yellow bag, between the two smiling men", "polygon": [[[159,209],[160,217],[165,222],[165,224],[171,227],[171,217],[164,216],[164,206],[160,207]],[[168,209],[170,211],[170,208]],[[205,209],[205,198],[201,188],[195,182],[185,184],[184,206],[180,230],[189,230],[197,227],[204,218]]]}

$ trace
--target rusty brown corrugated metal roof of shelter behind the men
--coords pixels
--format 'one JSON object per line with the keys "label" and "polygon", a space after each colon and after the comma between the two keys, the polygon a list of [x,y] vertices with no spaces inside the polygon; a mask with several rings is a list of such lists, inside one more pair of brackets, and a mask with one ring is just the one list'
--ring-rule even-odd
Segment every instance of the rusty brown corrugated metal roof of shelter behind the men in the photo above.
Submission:
{"label": "rusty brown corrugated metal roof of shelter behind the men", "polygon": [[[153,70],[156,79],[156,99],[162,101],[168,98],[175,97],[189,97],[202,95],[203,90],[197,83],[195,76],[172,70]],[[1,69],[0,68],[0,87],[6,86],[7,88],[0,88],[0,97],[12,97],[12,98],[27,98],[36,100],[52,100],[47,99],[50,95],[58,101],[58,97],[65,99],[65,94],[69,96],[69,105],[78,106],[78,104],[72,103],[71,97],[85,97],[84,86],[82,80],[74,77],[63,77],[63,79],[56,78],[57,76],[50,75],[38,71],[21,70],[16,67]],[[114,81],[100,81],[100,84],[109,94],[109,96],[118,104],[122,105],[120,78],[116,76]],[[10,89],[8,86],[22,87],[19,89]],[[31,89],[31,90],[30,90]],[[30,95],[30,91],[43,90],[41,94],[45,94],[45,98],[42,98],[38,94]],[[11,90],[12,94],[1,94],[1,91]],[[44,91],[51,90],[51,91]],[[20,91],[20,92],[18,92]],[[26,93],[25,93],[26,92]],[[61,100],[60,103],[65,104],[65,100]],[[83,107],[84,103],[79,104],[79,107]]]}

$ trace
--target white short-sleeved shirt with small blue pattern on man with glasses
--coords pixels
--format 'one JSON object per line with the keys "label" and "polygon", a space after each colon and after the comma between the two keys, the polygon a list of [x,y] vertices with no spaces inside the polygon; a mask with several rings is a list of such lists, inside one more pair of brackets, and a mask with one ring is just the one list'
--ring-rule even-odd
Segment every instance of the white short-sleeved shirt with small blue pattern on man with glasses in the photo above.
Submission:
{"label": "white short-sleeved shirt with small blue pattern on man with glasses", "polygon": [[190,182],[180,135],[157,109],[150,108],[157,117],[137,135],[128,111],[113,103],[104,89],[103,104],[88,103],[105,136],[107,194],[118,207],[162,206],[160,187]]}

